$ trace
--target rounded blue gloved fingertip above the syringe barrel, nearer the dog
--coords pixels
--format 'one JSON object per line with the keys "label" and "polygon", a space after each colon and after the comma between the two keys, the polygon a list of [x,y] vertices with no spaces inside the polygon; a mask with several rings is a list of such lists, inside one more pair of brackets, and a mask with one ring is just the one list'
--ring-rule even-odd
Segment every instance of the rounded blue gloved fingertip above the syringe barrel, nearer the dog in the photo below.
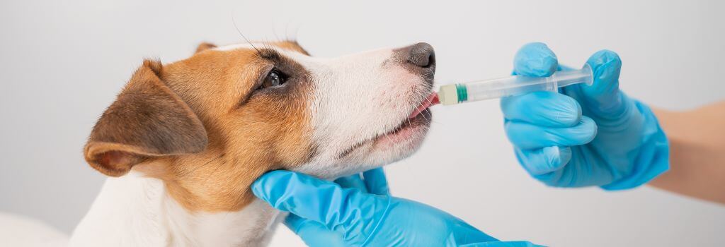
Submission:
{"label": "rounded blue gloved fingertip above the syringe barrel, nearer the dog", "polygon": [[513,58],[513,74],[548,77],[558,68],[558,59],[544,43],[528,43]]}

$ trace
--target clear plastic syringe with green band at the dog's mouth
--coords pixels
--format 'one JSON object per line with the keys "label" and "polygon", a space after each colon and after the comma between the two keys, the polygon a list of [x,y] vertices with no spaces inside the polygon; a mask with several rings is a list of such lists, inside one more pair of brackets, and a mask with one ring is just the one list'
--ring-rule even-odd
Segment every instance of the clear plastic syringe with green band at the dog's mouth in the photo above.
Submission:
{"label": "clear plastic syringe with green band at the dog's mouth", "polygon": [[521,95],[534,91],[553,91],[571,84],[594,82],[592,67],[571,71],[556,71],[550,77],[513,76],[499,79],[486,79],[476,82],[447,84],[441,86],[438,97],[442,105],[455,105],[479,100],[488,100],[511,95]]}

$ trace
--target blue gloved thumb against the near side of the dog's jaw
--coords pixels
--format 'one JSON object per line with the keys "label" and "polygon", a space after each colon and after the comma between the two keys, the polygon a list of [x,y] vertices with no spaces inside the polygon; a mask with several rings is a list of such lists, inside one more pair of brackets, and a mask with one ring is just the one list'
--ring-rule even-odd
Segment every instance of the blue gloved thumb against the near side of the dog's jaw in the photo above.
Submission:
{"label": "blue gloved thumb against the near side of the dog's jaw", "polygon": [[351,225],[372,228],[370,224],[376,221],[363,221],[363,217],[375,215],[387,205],[383,196],[287,170],[265,173],[252,183],[252,193],[276,209],[320,222],[331,230],[345,230]]}

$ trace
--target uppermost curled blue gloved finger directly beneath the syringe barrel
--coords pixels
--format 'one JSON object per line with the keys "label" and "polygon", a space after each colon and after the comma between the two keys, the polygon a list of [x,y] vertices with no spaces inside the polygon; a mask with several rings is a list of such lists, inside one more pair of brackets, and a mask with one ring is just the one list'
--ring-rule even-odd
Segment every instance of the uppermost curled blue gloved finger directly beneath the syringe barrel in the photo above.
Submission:
{"label": "uppermost curled blue gloved finger directly beneath the syringe barrel", "polygon": [[548,127],[571,127],[581,121],[581,106],[558,92],[531,92],[503,97],[501,111],[510,121]]}

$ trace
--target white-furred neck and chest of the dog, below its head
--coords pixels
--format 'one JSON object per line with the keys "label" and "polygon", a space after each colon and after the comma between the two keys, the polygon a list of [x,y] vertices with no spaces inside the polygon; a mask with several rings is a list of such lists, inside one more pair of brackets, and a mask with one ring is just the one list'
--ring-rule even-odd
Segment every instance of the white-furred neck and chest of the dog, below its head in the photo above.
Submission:
{"label": "white-furred neck and chest of the dog, below its head", "polygon": [[254,200],[238,212],[188,212],[162,181],[107,178],[70,246],[264,246],[278,212]]}

